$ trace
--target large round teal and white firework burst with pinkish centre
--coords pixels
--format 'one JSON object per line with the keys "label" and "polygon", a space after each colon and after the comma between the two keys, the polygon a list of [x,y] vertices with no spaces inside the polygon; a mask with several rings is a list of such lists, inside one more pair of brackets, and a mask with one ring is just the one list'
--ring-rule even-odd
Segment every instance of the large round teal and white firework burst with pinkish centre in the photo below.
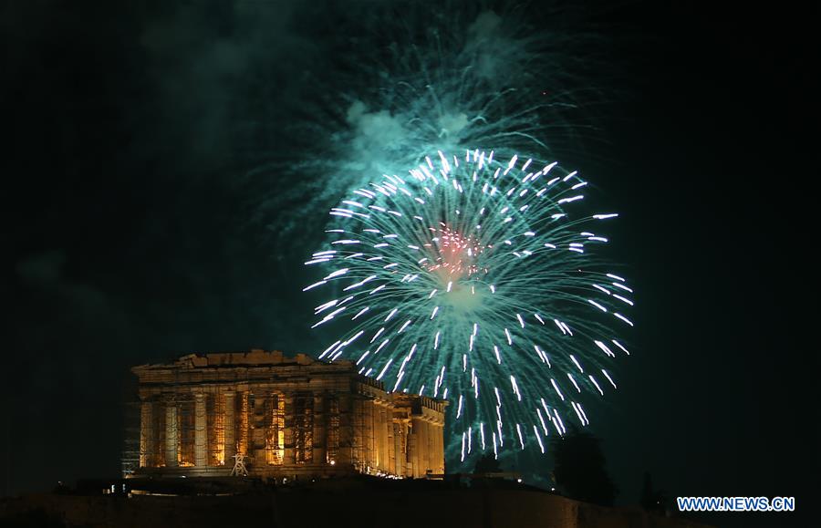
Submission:
{"label": "large round teal and white firework burst with pinkish centre", "polygon": [[[356,362],[393,391],[448,399],[448,457],[546,450],[583,400],[616,382],[632,289],[596,250],[615,213],[577,212],[587,181],[556,163],[470,150],[384,175],[330,211],[333,289],[317,326],[344,332],[320,355]],[[336,286],[331,288],[331,286]]]}

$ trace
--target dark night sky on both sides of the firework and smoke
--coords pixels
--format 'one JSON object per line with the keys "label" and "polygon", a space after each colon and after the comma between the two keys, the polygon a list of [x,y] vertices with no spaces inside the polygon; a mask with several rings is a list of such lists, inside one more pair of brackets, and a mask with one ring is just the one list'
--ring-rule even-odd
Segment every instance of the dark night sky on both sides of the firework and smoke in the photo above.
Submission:
{"label": "dark night sky on both sides of the firework and smoke", "polygon": [[[0,7],[4,493],[117,474],[130,366],[317,347],[301,262],[265,230],[286,209],[261,210],[247,173],[334,40],[311,26],[322,6],[256,4]],[[639,300],[620,390],[591,411],[618,501],[650,471],[670,496],[795,495],[806,513],[817,8],[599,3],[589,20],[612,96],[577,164],[618,204]],[[803,518],[739,515],[711,521]]]}

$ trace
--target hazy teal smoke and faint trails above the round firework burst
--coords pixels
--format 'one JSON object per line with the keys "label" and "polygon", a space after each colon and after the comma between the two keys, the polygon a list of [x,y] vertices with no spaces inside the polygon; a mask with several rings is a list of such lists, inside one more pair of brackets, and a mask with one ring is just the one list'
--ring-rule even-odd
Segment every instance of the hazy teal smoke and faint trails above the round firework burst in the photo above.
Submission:
{"label": "hazy teal smoke and faint trails above the round firework burst", "polygon": [[[265,205],[327,209],[371,174],[399,173],[437,150],[534,160],[579,150],[579,135],[593,128],[579,109],[598,97],[582,78],[596,61],[581,56],[592,37],[570,34],[568,13],[535,27],[524,11],[452,3],[330,8],[316,23],[344,37],[327,43],[333,66],[305,83],[311,102],[292,124],[298,158],[252,172],[269,182],[296,172],[300,183],[265,192]],[[289,237],[307,226],[270,227]]]}

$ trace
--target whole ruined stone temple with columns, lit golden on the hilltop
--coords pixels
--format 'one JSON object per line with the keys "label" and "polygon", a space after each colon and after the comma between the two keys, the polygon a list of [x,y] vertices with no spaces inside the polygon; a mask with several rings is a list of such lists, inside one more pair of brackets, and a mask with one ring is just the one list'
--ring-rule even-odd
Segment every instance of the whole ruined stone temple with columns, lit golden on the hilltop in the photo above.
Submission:
{"label": "whole ruined stone temple with columns, lit golden on the hilltop", "polygon": [[446,402],[384,386],[348,361],[252,350],[131,369],[139,378],[135,476],[303,479],[444,472]]}

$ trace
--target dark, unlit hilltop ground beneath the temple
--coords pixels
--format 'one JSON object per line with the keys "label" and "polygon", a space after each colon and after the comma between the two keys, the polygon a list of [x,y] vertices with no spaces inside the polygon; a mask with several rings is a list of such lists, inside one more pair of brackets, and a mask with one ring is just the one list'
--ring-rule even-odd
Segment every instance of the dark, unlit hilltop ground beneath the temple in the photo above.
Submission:
{"label": "dark, unlit hilltop ground beneath the temple", "polygon": [[[122,482],[122,481],[120,481]],[[160,528],[350,526],[391,528],[702,528],[638,509],[576,502],[514,483],[346,479],[266,486],[225,482],[186,488],[149,483],[145,495],[95,489],[32,494],[0,502],[0,527]],[[107,488],[109,489],[109,488]],[[230,494],[226,494],[230,493]]]}

